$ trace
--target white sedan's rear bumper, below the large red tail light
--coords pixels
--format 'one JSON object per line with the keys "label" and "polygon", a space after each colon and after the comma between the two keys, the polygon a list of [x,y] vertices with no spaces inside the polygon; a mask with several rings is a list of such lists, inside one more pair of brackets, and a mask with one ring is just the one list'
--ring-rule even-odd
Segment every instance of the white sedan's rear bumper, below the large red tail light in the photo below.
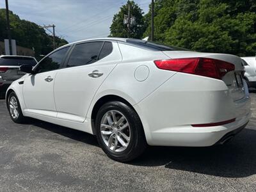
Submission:
{"label": "white sedan's rear bumper, below the large red tail light", "polygon": [[[148,145],[206,147],[248,123],[250,97],[245,89],[244,98],[234,102],[223,81],[180,74],[134,105],[134,109],[141,118]],[[225,125],[191,126],[233,118],[235,122]]]}

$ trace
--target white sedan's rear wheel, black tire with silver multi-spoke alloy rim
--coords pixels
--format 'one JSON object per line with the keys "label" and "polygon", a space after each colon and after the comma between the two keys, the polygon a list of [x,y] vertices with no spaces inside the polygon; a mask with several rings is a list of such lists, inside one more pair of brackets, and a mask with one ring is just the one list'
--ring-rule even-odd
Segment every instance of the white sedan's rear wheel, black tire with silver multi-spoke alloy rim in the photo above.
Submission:
{"label": "white sedan's rear wheel, black tire with silver multi-spoke alloy rim", "polygon": [[140,117],[123,102],[104,104],[97,113],[95,128],[100,147],[115,161],[131,161],[147,148]]}

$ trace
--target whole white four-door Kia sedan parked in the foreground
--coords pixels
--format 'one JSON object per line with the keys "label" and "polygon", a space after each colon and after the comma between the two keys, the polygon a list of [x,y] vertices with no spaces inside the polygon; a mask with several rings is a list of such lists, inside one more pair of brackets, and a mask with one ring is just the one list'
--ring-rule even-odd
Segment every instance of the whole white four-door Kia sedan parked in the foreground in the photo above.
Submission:
{"label": "whole white four-door Kia sedan parked in the foreground", "polygon": [[12,83],[12,120],[88,132],[116,161],[147,145],[223,144],[250,118],[241,58],[153,42],[100,38],[64,45]]}

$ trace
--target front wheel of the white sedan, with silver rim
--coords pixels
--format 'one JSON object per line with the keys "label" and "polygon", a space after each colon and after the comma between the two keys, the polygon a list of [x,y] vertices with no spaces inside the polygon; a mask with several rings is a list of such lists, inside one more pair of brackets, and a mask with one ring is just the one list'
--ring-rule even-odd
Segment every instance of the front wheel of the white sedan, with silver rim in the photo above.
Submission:
{"label": "front wheel of the white sedan, with silver rim", "polygon": [[8,96],[7,108],[13,122],[17,124],[26,122],[26,117],[24,117],[22,114],[20,102],[15,92],[10,93],[10,95]]}

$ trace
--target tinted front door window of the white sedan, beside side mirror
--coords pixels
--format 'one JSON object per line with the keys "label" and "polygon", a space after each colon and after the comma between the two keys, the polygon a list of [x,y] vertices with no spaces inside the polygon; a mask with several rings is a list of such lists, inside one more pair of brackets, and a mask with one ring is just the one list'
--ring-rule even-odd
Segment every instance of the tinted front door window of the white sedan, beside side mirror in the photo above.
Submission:
{"label": "tinted front door window of the white sedan, beside side mirror", "polygon": [[44,58],[42,61],[40,61],[38,67],[36,67],[36,72],[42,73],[60,68],[61,61],[65,57],[68,49],[69,47],[65,47],[50,54],[47,56],[47,58]]}

